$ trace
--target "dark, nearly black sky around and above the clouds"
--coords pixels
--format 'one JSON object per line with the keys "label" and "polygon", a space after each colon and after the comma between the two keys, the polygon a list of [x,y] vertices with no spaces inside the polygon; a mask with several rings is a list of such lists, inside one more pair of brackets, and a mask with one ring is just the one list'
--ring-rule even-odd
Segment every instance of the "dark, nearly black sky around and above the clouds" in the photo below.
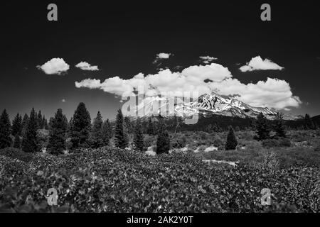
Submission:
{"label": "dark, nearly black sky around and above the clouds", "polygon": [[[131,78],[156,73],[159,52],[174,53],[169,68],[198,65],[210,55],[242,83],[267,77],[289,82],[303,104],[292,114],[320,114],[320,29],[317,1],[267,1],[272,21],[260,20],[265,1],[5,1],[1,3],[0,107],[14,116],[41,109],[46,116],[62,108],[68,118],[80,101],[92,117],[114,118],[121,105],[114,94],[78,89],[76,81]],[[139,2],[139,3],[137,3]],[[47,20],[47,6],[58,5],[58,22]],[[236,63],[260,55],[282,71],[242,73]],[[70,65],[64,75],[36,68],[53,57]],[[85,72],[74,66],[100,68]],[[66,102],[62,102],[65,99]]]}

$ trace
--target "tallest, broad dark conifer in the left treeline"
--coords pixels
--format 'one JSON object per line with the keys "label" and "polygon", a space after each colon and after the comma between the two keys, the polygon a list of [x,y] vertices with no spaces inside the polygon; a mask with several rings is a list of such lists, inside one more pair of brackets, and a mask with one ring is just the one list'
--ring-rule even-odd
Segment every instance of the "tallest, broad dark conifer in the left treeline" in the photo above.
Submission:
{"label": "tallest, broad dark conifer in the left treeline", "polygon": [[91,117],[84,103],[80,103],[73,115],[71,143],[73,148],[86,147],[90,136]]}

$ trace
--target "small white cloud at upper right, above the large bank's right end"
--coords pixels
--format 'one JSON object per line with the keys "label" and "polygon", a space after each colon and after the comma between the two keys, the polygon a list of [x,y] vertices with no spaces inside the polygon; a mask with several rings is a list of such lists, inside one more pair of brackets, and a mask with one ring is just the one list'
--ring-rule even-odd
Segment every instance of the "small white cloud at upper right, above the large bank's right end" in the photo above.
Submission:
{"label": "small white cloud at upper right, above the large bank's right end", "polygon": [[252,57],[247,65],[240,67],[241,72],[251,72],[256,70],[283,70],[284,67],[277,65],[269,59],[262,60],[260,56]]}

